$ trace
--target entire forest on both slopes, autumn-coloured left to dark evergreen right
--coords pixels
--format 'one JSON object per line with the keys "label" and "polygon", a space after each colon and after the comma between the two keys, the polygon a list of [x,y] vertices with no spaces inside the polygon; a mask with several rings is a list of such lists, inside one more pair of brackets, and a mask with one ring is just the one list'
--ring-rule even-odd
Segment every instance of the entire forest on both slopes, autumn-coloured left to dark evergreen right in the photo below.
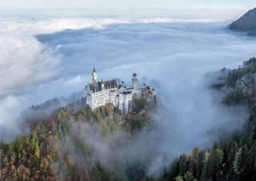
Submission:
{"label": "entire forest on both slopes, autumn-coloured left to dark evergreen right", "polygon": [[157,101],[146,102],[142,95],[127,116],[111,104],[92,111],[84,100],[50,113],[42,114],[40,107],[22,112],[31,134],[0,142],[0,180],[256,180],[256,58],[218,75],[212,88],[223,92],[223,104],[246,107],[249,119],[228,140],[193,148],[159,175],[146,174],[148,160],[120,162],[115,152],[138,131],[154,130],[150,115]]}

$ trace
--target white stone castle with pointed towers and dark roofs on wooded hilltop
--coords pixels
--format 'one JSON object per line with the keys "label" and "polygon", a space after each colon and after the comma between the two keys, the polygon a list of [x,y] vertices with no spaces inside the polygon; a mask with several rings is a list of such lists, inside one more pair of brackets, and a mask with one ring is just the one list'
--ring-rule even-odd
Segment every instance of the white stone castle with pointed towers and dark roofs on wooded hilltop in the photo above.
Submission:
{"label": "white stone castle with pointed towers and dark roofs on wooded hilltop", "polygon": [[146,100],[154,99],[154,89],[150,86],[138,86],[138,78],[136,73],[132,77],[132,86],[126,88],[125,83],[118,85],[115,80],[98,81],[96,69],[93,69],[92,83],[86,85],[86,104],[90,105],[93,110],[106,103],[111,103],[115,108],[119,108],[123,114],[127,114],[132,110],[135,99],[145,96]]}

